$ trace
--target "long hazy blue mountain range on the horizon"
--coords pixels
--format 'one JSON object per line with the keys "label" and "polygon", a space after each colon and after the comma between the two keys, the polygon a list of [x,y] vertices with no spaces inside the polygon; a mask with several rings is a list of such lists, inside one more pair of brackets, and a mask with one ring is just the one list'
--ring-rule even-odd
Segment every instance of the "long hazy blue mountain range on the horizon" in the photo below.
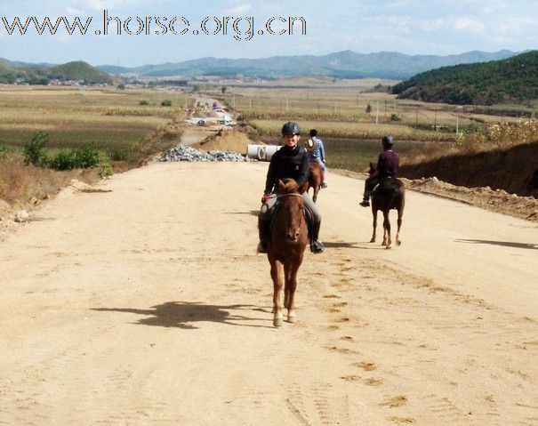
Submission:
{"label": "long hazy blue mountain range on the horizon", "polygon": [[515,52],[465,52],[458,55],[406,55],[398,52],[357,53],[342,51],[323,56],[274,56],[264,59],[202,58],[178,63],[123,68],[99,66],[101,71],[132,76],[333,76],[378,77],[402,80],[429,69],[463,63],[510,58]]}

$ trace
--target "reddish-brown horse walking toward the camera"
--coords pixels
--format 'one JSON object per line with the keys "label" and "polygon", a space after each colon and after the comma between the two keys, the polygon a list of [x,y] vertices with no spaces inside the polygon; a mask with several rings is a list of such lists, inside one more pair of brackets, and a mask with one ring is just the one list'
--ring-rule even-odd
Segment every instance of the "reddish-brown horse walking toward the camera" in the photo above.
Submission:
{"label": "reddish-brown horse walking toward the camera", "polygon": [[[296,181],[278,181],[277,217],[271,230],[267,257],[273,279],[273,325],[282,326],[282,309],[288,311],[288,322],[296,321],[294,302],[297,288],[297,272],[302,263],[304,250],[309,244],[307,222],[303,202]],[[282,287],[284,285],[284,305]]]}

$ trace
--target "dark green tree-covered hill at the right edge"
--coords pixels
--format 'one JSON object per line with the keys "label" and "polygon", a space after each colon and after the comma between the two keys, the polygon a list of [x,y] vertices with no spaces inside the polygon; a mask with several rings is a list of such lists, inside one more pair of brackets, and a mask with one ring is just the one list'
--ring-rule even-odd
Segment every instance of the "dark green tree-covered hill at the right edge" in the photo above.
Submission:
{"label": "dark green tree-covered hill at the right edge", "polygon": [[396,84],[399,99],[465,105],[538,100],[538,51],[505,60],[426,71]]}

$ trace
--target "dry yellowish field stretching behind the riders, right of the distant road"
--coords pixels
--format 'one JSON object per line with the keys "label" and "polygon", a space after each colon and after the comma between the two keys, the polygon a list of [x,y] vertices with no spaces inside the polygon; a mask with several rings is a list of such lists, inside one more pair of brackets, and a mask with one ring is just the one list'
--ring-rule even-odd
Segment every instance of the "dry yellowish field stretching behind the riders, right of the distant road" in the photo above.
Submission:
{"label": "dry yellowish field stretching behind the riders, right of the distant road", "polygon": [[325,141],[329,167],[352,171],[363,171],[369,161],[376,160],[384,134],[396,138],[404,162],[424,160],[462,147],[469,149],[465,142],[469,135],[484,132],[489,125],[524,122],[522,117],[508,115],[513,116],[514,110],[521,116],[532,114],[527,107],[510,105],[487,109],[397,100],[382,92],[394,82],[383,80],[270,83],[227,86],[223,93],[215,88],[212,94],[236,110],[265,141],[277,142],[280,128],[288,120],[299,122],[305,134],[316,128]]}

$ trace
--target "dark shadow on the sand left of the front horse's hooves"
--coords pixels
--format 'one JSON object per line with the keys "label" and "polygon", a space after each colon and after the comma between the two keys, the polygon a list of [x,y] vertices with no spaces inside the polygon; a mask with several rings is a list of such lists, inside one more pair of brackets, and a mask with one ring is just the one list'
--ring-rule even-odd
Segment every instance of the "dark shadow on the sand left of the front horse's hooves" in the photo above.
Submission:
{"label": "dark shadow on the sand left of the front horse's hooves", "polygon": [[151,309],[132,309],[132,308],[92,308],[100,312],[128,312],[146,316],[139,319],[136,323],[142,326],[160,326],[176,327],[184,330],[195,330],[199,328],[196,323],[213,322],[227,324],[229,326],[247,326],[247,327],[267,327],[255,326],[252,324],[241,324],[242,321],[265,320],[261,317],[247,317],[234,311],[250,311],[253,305],[207,305],[197,301],[166,301]]}

